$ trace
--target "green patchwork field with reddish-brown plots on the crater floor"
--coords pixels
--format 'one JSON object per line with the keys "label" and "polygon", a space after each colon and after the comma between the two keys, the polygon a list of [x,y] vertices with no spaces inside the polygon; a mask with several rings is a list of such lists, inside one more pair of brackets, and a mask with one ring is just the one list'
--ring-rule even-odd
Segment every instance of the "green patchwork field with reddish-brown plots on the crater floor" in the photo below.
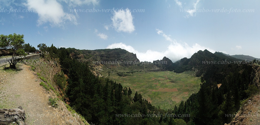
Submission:
{"label": "green patchwork field with reddish-brown plots on the crater floor", "polygon": [[[107,73],[103,71],[102,75],[105,77]],[[108,78],[121,83],[123,87],[130,87],[133,91],[132,96],[135,91],[138,91],[155,107],[159,106],[166,110],[198,92],[201,83],[200,78],[194,76],[194,71],[178,74],[171,71],[142,71],[124,74],[127,76],[121,77],[116,73],[110,73]]]}

